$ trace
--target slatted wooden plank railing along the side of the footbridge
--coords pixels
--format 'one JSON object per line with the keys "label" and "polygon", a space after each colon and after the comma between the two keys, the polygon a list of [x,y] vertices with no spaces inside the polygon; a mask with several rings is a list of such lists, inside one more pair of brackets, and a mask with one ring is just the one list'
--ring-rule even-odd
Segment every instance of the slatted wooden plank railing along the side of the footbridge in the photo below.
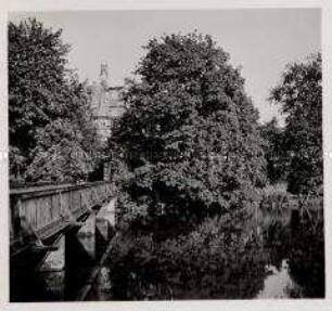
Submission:
{"label": "slatted wooden plank railing along the side of the footbridge", "polygon": [[46,239],[114,195],[111,182],[46,185],[10,191],[11,245],[33,231]]}

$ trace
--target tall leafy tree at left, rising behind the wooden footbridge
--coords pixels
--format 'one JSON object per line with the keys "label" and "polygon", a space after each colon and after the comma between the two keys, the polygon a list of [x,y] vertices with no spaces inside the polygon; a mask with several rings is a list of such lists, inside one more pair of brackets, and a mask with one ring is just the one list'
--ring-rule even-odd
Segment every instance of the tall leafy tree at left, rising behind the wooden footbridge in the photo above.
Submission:
{"label": "tall leafy tree at left, rising behind the wooden footbridge", "polygon": [[98,151],[86,87],[66,68],[62,30],[9,23],[10,173],[21,182],[85,178]]}

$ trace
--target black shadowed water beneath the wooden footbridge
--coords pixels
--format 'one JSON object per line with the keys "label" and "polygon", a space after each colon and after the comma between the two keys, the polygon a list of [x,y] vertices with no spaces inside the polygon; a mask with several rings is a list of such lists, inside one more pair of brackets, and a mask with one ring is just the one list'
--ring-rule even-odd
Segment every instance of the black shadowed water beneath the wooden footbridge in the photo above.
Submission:
{"label": "black shadowed water beneath the wooden footbridge", "polygon": [[[65,267],[61,270],[39,271],[38,262],[43,257],[24,254],[18,262],[11,262],[10,299],[15,302],[25,301],[73,301],[89,277],[95,261],[105,249],[105,242],[100,236],[65,237]],[[97,248],[95,245],[99,245]],[[103,270],[103,275],[107,273]]]}

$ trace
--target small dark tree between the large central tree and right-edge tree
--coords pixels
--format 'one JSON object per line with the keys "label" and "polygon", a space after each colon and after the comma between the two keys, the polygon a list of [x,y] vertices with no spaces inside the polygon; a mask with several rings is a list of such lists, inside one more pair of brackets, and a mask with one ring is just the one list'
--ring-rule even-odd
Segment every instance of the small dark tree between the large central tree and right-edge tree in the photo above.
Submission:
{"label": "small dark tree between the large central tree and right-edge tree", "polygon": [[289,166],[288,154],[284,150],[284,131],[279,127],[277,118],[261,125],[259,130],[265,139],[267,178],[271,184],[284,182]]}

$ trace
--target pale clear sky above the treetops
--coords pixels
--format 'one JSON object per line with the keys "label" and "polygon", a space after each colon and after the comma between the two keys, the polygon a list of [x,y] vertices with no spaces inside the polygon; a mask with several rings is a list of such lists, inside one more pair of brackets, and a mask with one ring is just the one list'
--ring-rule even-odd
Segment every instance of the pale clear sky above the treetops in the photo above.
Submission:
{"label": "pale clear sky above the treetops", "polygon": [[15,12],[9,20],[16,23],[26,17],[63,29],[64,41],[72,44],[69,66],[81,80],[98,80],[100,65],[106,62],[110,82],[116,86],[132,76],[149,39],[195,29],[212,35],[230,54],[231,64],[242,67],[260,121],[276,116],[281,125],[278,106],[268,102],[271,88],[286,64],[321,51],[319,9]]}

